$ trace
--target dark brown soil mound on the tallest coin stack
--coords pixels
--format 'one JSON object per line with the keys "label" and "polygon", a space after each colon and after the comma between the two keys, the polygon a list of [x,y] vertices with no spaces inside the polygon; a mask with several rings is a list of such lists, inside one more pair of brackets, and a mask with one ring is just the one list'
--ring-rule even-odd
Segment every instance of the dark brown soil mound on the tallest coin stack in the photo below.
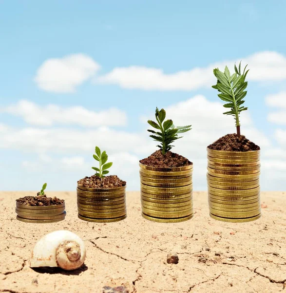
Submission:
{"label": "dark brown soil mound on the tallest coin stack", "polygon": [[260,147],[250,142],[244,135],[236,133],[227,134],[208,146],[210,149],[225,151],[250,151],[259,150]]}

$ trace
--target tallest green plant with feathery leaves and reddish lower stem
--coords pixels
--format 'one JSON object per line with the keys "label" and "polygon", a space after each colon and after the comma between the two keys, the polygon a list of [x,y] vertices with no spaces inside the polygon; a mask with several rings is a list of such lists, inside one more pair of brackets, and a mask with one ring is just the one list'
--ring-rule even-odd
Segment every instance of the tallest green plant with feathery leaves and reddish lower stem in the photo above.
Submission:
{"label": "tallest green plant with feathery leaves and reddish lower stem", "polygon": [[240,122],[239,122],[239,114],[242,111],[247,110],[248,108],[242,106],[244,104],[243,98],[246,96],[248,82],[246,82],[246,76],[248,74],[249,69],[246,71],[245,66],[243,73],[241,73],[241,62],[239,63],[238,68],[234,64],[234,71],[232,75],[229,73],[228,66],[225,67],[225,71],[221,72],[218,68],[213,70],[213,74],[217,78],[217,84],[212,87],[217,89],[220,94],[218,94],[219,98],[227,104],[224,105],[226,108],[230,108],[230,111],[224,112],[226,115],[232,115],[235,119],[236,131],[237,135],[240,136]]}

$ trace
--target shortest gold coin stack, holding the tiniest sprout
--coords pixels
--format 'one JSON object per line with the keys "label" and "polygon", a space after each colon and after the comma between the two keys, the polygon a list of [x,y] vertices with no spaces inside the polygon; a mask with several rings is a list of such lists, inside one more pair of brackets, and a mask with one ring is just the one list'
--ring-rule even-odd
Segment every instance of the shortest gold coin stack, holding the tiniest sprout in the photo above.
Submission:
{"label": "shortest gold coin stack, holding the tiniest sprout", "polygon": [[54,223],[64,220],[65,204],[53,206],[24,206],[16,203],[17,220],[26,223]]}

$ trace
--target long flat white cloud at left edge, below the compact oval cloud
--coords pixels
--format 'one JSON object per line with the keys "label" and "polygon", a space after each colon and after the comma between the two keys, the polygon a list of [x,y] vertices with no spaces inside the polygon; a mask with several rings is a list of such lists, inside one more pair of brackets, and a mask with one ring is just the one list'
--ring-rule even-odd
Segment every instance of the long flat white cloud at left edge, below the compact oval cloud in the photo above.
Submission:
{"label": "long flat white cloud at left edge, below the compact oval cloud", "polygon": [[53,104],[41,106],[21,100],[15,105],[0,108],[1,112],[19,116],[28,124],[36,126],[61,124],[97,127],[102,125],[125,126],[127,124],[126,113],[116,108],[95,112],[82,106],[65,108]]}

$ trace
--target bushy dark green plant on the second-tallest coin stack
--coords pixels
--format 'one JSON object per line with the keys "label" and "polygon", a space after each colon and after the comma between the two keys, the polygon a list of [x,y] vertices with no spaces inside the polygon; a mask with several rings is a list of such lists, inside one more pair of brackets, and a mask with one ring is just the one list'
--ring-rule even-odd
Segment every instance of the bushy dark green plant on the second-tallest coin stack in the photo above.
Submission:
{"label": "bushy dark green plant on the second-tallest coin stack", "polygon": [[148,129],[147,131],[153,133],[150,135],[150,137],[152,137],[155,141],[160,142],[160,145],[158,145],[158,147],[161,149],[162,154],[164,155],[167,151],[171,150],[172,142],[179,138],[182,138],[182,136],[178,136],[178,133],[183,133],[191,130],[191,125],[175,127],[171,119],[164,121],[166,118],[166,111],[164,109],[161,109],[159,111],[157,107],[155,112],[155,118],[157,123],[152,120],[148,120],[148,123],[159,131],[154,131],[152,129]]}

